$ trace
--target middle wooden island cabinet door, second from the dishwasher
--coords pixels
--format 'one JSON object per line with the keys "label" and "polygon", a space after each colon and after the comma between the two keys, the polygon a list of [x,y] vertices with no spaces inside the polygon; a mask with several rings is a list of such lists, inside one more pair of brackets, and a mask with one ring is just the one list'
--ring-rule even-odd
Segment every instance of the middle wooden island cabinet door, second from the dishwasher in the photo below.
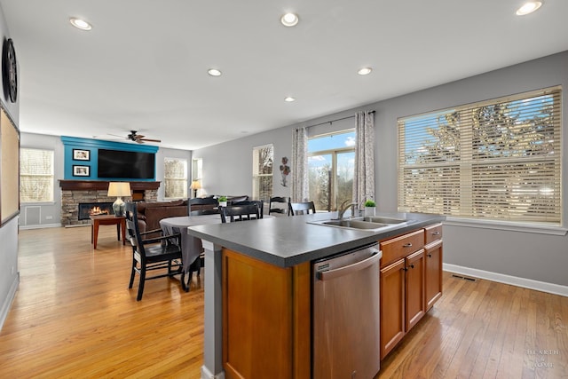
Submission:
{"label": "middle wooden island cabinet door, second from the dishwasher", "polygon": [[424,249],[406,257],[406,332],[422,319],[424,303]]}

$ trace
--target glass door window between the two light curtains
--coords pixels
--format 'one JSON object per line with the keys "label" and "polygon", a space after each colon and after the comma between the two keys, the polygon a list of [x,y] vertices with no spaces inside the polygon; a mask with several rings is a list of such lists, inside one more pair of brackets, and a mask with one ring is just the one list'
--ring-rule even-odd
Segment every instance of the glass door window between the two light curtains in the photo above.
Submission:
{"label": "glass door window between the two light curtains", "polygon": [[308,140],[310,200],[317,210],[335,210],[353,198],[355,130],[343,130]]}

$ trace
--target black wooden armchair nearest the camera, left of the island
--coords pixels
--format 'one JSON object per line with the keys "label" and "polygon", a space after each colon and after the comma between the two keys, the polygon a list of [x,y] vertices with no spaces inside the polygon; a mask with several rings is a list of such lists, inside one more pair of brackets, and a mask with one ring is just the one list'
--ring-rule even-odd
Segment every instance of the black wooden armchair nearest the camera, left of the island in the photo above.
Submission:
{"label": "black wooden armchair nearest the camera, left of the island", "polygon": [[[140,275],[137,301],[142,300],[146,280],[181,274],[182,288],[185,292],[189,290],[189,287],[185,285],[185,272],[182,264],[181,233],[143,240],[144,233],[140,233],[138,227],[136,203],[132,201],[126,202],[126,230],[132,245],[132,271],[128,288],[132,288],[136,273]],[[161,270],[162,273],[151,277],[146,276],[146,272],[155,270]],[[163,272],[164,270],[166,272]]]}

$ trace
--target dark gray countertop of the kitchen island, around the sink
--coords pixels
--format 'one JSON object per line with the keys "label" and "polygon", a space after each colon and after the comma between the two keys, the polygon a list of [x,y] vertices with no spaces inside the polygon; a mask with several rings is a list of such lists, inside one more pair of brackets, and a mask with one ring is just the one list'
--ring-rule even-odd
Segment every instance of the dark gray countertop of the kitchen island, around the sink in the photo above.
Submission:
{"label": "dark gray countertop of the kitchen island, around the sink", "polygon": [[309,223],[335,216],[336,213],[332,212],[270,217],[230,224],[195,225],[188,228],[188,233],[271,265],[291,267],[412,232],[446,219],[443,216],[420,213],[380,213],[377,216],[401,217],[409,221],[376,233]]}

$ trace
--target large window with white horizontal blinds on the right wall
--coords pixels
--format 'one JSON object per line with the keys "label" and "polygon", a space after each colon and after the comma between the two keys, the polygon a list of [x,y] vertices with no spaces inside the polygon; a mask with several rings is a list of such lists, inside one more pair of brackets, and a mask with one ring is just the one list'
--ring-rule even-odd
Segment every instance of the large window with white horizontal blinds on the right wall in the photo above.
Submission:
{"label": "large window with white horizontal blinds on the right wall", "polygon": [[561,223],[561,89],[398,119],[398,210]]}

